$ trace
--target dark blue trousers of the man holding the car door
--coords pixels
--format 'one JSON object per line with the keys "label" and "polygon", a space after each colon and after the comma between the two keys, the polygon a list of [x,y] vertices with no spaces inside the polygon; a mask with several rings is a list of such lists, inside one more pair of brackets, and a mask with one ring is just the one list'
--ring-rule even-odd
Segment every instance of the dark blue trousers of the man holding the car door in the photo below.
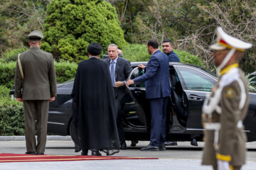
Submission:
{"label": "dark blue trousers of the man holding the car door", "polygon": [[153,98],[149,100],[151,110],[150,145],[159,147],[166,137],[166,108],[168,98]]}

